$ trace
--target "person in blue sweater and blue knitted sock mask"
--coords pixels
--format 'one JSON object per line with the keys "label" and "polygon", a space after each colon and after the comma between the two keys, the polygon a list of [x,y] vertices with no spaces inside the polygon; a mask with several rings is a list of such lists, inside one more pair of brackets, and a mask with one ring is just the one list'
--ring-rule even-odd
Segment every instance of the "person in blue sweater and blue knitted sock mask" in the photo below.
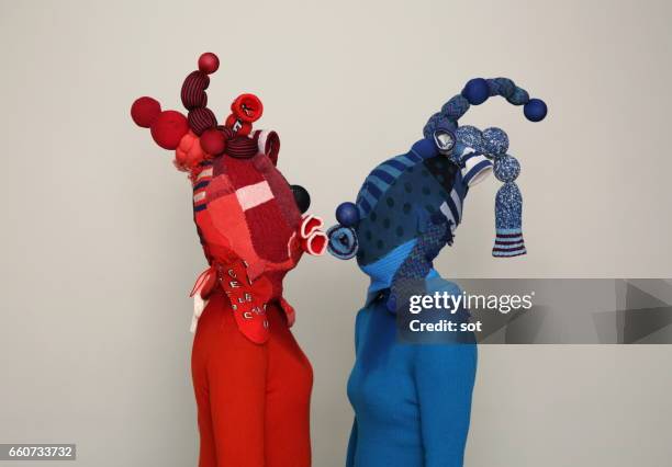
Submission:
{"label": "person in blue sweater and blue knitted sock mask", "polygon": [[[512,80],[473,79],[429,118],[423,139],[376,167],[356,202],[336,209],[338,224],[327,232],[328,250],[344,260],[356,257],[371,281],[355,326],[356,361],[348,380],[355,422],[348,467],[463,464],[477,371],[474,337],[405,343],[400,322],[407,319],[413,296],[462,294],[439,276],[433,261],[452,244],[470,187],[493,168],[504,182],[495,200],[493,255],[526,252],[523,202],[514,182],[519,164],[506,153],[506,134],[458,125],[470,105],[493,95],[524,105],[533,122],[546,116],[546,104],[529,99]],[[453,322],[469,320],[463,308],[439,311],[430,319],[447,312]]]}

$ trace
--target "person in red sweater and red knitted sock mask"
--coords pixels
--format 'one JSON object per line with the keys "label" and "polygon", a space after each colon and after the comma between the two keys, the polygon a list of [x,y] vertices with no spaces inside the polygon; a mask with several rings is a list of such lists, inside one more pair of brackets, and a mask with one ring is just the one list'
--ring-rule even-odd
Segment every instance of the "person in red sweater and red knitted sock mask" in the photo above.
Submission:
{"label": "person in red sweater and red knitted sock mask", "polygon": [[282,280],[304,252],[322,254],[320,218],[303,215],[307,192],[277,169],[275,132],[253,130],[264,106],[238,96],[220,125],[208,109],[203,54],[182,86],[188,115],[152,98],[131,115],[189,173],[193,217],[209,267],[192,291],[192,377],[201,435],[200,467],[309,467],[311,364],[289,328],[293,308]]}

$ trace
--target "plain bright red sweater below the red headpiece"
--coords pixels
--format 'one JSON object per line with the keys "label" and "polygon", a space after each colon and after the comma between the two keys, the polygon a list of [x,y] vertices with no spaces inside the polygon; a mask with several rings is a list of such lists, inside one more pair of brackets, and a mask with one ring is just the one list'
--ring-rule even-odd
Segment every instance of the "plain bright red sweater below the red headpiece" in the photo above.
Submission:
{"label": "plain bright red sweater below the red headpiece", "polygon": [[199,467],[309,467],[311,364],[272,301],[270,337],[239,332],[215,292],[199,319],[192,376],[201,433]]}

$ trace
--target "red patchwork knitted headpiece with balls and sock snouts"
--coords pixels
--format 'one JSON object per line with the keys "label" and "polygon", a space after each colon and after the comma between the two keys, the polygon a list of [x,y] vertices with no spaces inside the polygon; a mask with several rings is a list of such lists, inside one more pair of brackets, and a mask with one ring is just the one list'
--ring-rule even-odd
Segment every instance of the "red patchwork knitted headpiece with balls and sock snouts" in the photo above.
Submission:
{"label": "red patchwork knitted headpiece with balls and sock snouts", "polygon": [[290,185],[276,167],[280,139],[275,132],[255,130],[264,106],[254,94],[231,105],[223,125],[208,107],[209,75],[217,70],[214,54],[203,54],[199,69],[181,89],[187,116],[161,112],[152,98],[133,103],[133,121],[150,129],[163,148],[175,150],[175,166],[189,173],[193,219],[210,267],[193,287],[194,324],[204,300],[222,288],[240,331],[251,341],[268,339],[266,305],[278,300],[288,322],[294,312],[281,296],[282,278],[304,252],[322,254],[326,236],[322,220],[303,215],[310,196]]}

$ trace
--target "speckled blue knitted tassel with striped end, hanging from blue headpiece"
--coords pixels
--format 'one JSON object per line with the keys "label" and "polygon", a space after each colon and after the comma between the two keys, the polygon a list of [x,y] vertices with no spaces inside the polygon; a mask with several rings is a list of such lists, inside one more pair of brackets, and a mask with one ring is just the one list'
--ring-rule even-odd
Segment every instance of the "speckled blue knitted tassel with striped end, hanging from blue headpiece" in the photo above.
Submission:
{"label": "speckled blue knitted tassel with striped end, hanging from blue headpiece", "polygon": [[495,243],[493,257],[518,257],[527,253],[523,240],[523,195],[515,180],[520,164],[508,155],[497,156],[494,174],[504,185],[495,196]]}

